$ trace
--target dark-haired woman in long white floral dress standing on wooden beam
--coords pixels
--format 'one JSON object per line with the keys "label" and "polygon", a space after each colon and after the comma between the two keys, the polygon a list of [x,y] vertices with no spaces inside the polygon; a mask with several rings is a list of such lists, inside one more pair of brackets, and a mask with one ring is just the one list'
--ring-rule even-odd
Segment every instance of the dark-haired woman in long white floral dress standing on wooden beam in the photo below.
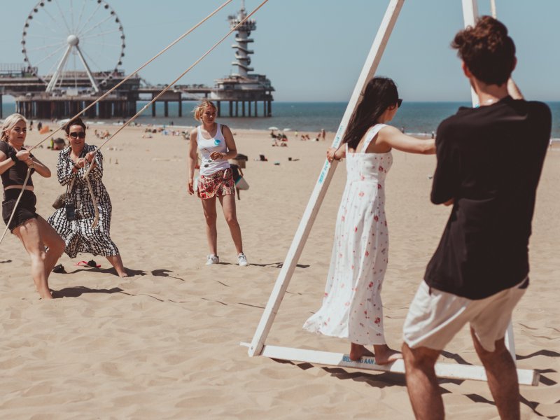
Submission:
{"label": "dark-haired woman in long white floral dress standing on wooden beam", "polygon": [[304,324],[311,332],[349,339],[351,360],[359,360],[367,353],[365,346],[373,345],[379,365],[400,358],[385,341],[380,295],[388,261],[384,181],[393,162],[391,149],[435,153],[433,139],[415,139],[385,124],[401,102],[393,80],[372,78],[341,146],[327,151],[329,162],[346,158],[346,188],[323,305]]}

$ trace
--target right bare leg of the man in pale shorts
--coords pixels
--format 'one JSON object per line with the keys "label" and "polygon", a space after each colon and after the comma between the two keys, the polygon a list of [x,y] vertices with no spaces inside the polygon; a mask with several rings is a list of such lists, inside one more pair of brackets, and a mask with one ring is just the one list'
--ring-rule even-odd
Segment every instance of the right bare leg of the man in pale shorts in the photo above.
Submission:
{"label": "right bare leg of the man in pale shorts", "polygon": [[498,407],[500,419],[519,419],[521,414],[517,370],[512,355],[505,347],[504,339],[496,341],[496,350],[487,351],[478,341],[472,328],[470,335],[472,335],[472,342],[475,344],[478,357],[486,370],[488,386],[494,402],[496,402],[496,407]]}

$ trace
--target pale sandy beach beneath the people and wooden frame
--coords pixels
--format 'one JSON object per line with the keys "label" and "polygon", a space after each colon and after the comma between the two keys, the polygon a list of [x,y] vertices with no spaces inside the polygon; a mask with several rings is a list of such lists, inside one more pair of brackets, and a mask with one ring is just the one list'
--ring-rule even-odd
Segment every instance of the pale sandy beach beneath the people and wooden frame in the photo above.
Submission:
{"label": "pale sandy beach beneath the people and wooden frame", "polygon": [[[86,142],[99,145],[94,128],[113,133],[118,127],[90,127]],[[76,265],[92,255],[63,255],[67,273],[50,276],[59,298],[43,301],[18,239],[8,235],[0,245],[0,418],[412,419],[401,374],[250,358],[239,345],[253,337],[334,134],[318,142],[292,134],[288,147],[272,147],[268,132],[232,127],[239,153],[248,155],[250,185],[241,192],[237,214],[251,265],[239,267],[219,213],[221,264],[204,265],[202,206],[186,192],[188,142],[162,133],[143,139],[144,129],[127,127],[102,149],[113,203],[111,237],[132,276],[120,279],[100,256],[93,257],[102,266],[96,269]],[[27,145],[40,139],[34,130]],[[46,143],[35,153],[53,172],[50,179],[34,176],[44,218],[63,192],[55,176],[57,154]],[[256,161],[260,154],[267,162]],[[395,151],[393,158],[382,296],[388,344],[398,348],[409,302],[449,209],[428,200],[434,156]],[[268,344],[349,350],[342,339],[302,330],[321,304],[344,182],[339,165]],[[554,146],[533,219],[531,286],[513,319],[518,367],[542,372],[539,386],[521,386],[523,419],[560,417],[559,185],[560,148]],[[466,328],[446,351],[442,360],[449,363],[479,364]],[[440,384],[449,419],[498,418],[484,382]]]}

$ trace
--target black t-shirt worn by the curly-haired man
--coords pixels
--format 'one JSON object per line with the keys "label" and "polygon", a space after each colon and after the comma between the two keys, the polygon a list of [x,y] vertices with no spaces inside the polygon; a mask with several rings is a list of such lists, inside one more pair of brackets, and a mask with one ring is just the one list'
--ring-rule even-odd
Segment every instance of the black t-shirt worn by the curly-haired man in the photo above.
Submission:
{"label": "black t-shirt worn by the curly-haired man", "polygon": [[541,102],[505,97],[461,108],[437,128],[431,200],[454,199],[428,286],[482,299],[528,274],[528,239],[552,116]]}

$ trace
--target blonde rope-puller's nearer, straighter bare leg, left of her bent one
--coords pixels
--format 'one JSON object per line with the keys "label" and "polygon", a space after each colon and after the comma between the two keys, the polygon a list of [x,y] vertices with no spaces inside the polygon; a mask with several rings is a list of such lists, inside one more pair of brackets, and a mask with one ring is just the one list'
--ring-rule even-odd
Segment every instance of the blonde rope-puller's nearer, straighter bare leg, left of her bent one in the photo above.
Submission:
{"label": "blonde rope-puller's nearer, straighter bare leg, left of her bent one", "polygon": [[25,251],[31,258],[31,277],[35,287],[43,299],[52,299],[48,288],[48,270],[45,266],[47,252],[41,240],[37,219],[32,218],[13,230],[15,236],[22,241]]}

